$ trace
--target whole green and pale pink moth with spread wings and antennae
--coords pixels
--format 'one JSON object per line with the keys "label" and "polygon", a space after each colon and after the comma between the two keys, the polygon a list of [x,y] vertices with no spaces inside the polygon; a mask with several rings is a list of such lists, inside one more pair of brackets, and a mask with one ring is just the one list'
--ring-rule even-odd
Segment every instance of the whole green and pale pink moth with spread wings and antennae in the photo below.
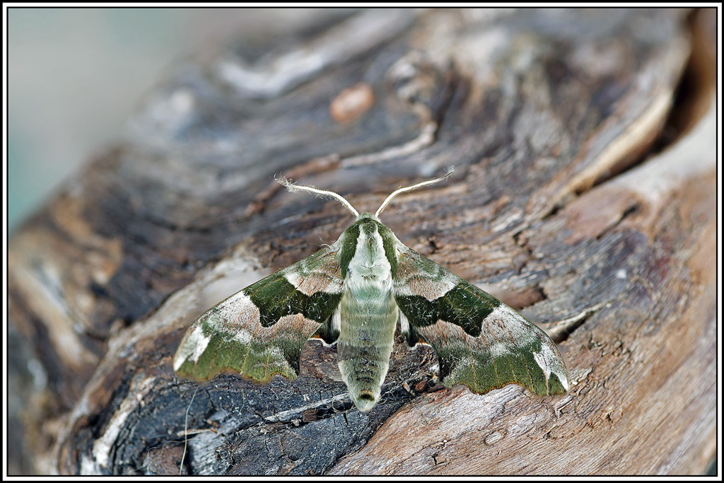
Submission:
{"label": "whole green and pale pink moth with spread wings and antennae", "polygon": [[342,196],[279,180],[291,191],[340,201],[355,217],[340,238],[235,293],[200,316],[174,356],[182,377],[237,372],[256,382],[294,379],[310,338],[337,344],[339,368],[360,411],[379,401],[399,325],[406,343],[431,345],[439,379],[473,392],[516,383],[538,395],[568,390],[568,371],[550,337],[513,308],[411,250],[375,214]]}

